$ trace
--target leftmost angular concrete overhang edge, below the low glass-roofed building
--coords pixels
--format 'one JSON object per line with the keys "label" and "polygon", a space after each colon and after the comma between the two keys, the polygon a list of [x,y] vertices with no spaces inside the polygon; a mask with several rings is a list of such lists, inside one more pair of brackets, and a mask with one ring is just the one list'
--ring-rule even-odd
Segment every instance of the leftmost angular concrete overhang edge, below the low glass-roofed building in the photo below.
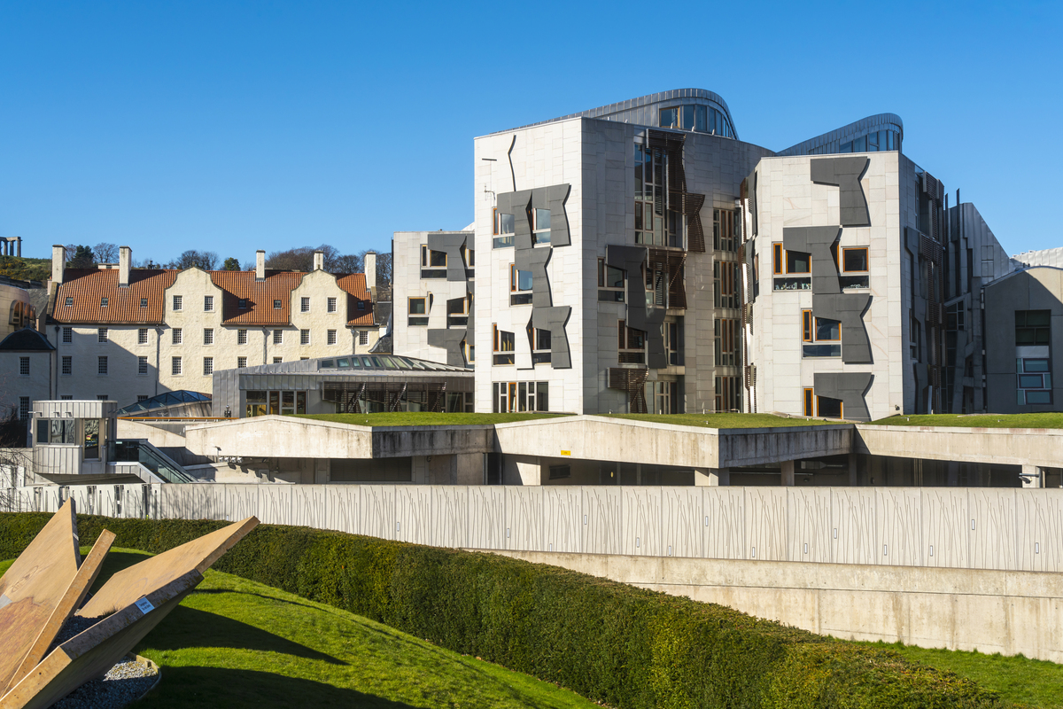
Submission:
{"label": "leftmost angular concrete overhang edge, below the low glass-roofed building", "polygon": [[357,426],[260,416],[189,426],[186,446],[198,455],[253,458],[400,458],[491,453],[491,426]]}

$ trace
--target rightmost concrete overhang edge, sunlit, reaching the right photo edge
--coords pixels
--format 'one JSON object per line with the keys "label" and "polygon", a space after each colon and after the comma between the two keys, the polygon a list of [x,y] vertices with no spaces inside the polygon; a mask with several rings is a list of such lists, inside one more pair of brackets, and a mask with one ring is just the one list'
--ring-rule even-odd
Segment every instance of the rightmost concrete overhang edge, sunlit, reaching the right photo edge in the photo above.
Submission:
{"label": "rightmost concrete overhang edge, sunlit, reaching the right photo edge", "polygon": [[1009,466],[1063,467],[1063,431],[857,424],[855,451],[871,455]]}

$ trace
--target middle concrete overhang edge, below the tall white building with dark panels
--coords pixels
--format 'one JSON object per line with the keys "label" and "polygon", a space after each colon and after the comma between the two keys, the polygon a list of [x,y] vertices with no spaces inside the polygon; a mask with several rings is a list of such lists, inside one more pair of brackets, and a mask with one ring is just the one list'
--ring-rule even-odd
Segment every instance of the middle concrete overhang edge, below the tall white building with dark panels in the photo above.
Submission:
{"label": "middle concrete overhang edge, below the tall white building with dark panels", "polygon": [[494,426],[499,450],[511,455],[614,460],[677,468],[762,466],[847,454],[853,425],[703,428],[568,416]]}

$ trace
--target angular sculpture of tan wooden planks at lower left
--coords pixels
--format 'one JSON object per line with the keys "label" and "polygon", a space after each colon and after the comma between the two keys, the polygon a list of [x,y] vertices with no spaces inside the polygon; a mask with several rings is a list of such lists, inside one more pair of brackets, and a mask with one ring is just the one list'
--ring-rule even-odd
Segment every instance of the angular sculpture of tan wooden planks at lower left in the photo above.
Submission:
{"label": "angular sculpture of tan wooden planks at lower left", "polygon": [[[0,578],[0,709],[49,707],[101,677],[257,524],[249,517],[120,571],[82,606],[115,535],[101,533],[82,561],[67,501]],[[101,620],[49,652],[72,615]]]}

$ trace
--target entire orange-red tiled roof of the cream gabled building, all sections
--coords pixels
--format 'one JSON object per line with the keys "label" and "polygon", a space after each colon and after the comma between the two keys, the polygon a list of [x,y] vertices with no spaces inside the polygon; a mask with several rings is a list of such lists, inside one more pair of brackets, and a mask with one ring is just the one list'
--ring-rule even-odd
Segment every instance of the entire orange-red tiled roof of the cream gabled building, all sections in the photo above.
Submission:
{"label": "entire orange-red tiled roof of the cream gabled building, all sections", "polygon": [[[133,269],[130,287],[118,287],[118,269],[67,269],[55,299],[55,322],[105,324],[163,324],[166,289],[180,271]],[[214,285],[222,289],[222,321],[226,325],[276,326],[291,323],[291,291],[305,273],[266,271],[266,280],[255,281],[254,271],[208,271]],[[365,273],[337,275],[340,289],[348,293],[349,326],[373,325],[373,303],[366,288]],[[67,299],[71,305],[66,305]],[[101,305],[102,299],[107,305]],[[140,306],[140,300],[147,305]],[[240,307],[240,301],[247,301]],[[281,307],[273,307],[281,301]],[[364,309],[358,309],[358,303]]]}

